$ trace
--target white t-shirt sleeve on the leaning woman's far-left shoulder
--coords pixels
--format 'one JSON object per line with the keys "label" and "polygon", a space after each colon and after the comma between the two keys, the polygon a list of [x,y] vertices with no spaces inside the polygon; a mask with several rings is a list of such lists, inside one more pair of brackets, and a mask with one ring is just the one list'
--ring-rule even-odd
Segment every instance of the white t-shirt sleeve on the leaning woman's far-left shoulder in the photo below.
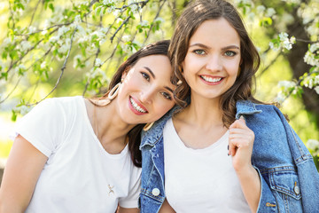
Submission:
{"label": "white t-shirt sleeve on the leaning woman's far-left shoulder", "polygon": [[49,157],[64,136],[65,118],[58,99],[45,99],[19,120],[14,129],[15,135],[26,138],[36,149]]}

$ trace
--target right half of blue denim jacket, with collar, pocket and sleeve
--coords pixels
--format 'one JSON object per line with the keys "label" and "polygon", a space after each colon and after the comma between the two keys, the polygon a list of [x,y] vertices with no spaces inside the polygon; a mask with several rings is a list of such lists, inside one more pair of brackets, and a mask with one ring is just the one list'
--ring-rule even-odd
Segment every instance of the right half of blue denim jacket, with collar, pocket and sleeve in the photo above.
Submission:
{"label": "right half of blue denim jacket, with collar, pocket and sleeve", "polygon": [[245,115],[255,133],[252,163],[261,178],[261,212],[317,212],[319,175],[307,147],[276,106],[245,102]]}

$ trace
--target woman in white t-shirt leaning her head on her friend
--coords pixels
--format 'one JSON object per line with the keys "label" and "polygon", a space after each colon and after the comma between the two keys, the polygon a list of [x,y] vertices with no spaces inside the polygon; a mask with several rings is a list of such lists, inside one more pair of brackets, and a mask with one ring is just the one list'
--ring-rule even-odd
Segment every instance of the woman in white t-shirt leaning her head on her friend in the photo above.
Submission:
{"label": "woman in white t-shirt leaning her head on her friend", "polygon": [[19,121],[1,213],[138,212],[140,131],[175,105],[168,44],[128,58],[102,98],[46,99]]}

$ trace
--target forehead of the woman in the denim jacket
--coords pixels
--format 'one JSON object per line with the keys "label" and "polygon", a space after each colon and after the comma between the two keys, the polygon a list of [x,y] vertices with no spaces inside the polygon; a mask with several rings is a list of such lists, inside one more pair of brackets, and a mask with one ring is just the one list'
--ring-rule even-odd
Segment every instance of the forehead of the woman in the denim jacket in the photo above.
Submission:
{"label": "forehead of the woman in the denim jacket", "polygon": [[235,28],[224,18],[205,20],[191,36],[190,43],[240,44],[240,37]]}

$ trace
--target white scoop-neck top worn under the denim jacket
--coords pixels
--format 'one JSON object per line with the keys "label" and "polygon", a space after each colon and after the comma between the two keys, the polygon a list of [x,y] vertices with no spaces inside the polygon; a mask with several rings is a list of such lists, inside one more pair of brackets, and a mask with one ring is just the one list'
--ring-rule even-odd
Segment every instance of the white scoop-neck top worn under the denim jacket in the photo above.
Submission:
{"label": "white scoop-neck top worn under the denim jacket", "polygon": [[164,128],[165,192],[177,213],[251,212],[228,156],[229,131],[211,146],[192,149],[172,119]]}

